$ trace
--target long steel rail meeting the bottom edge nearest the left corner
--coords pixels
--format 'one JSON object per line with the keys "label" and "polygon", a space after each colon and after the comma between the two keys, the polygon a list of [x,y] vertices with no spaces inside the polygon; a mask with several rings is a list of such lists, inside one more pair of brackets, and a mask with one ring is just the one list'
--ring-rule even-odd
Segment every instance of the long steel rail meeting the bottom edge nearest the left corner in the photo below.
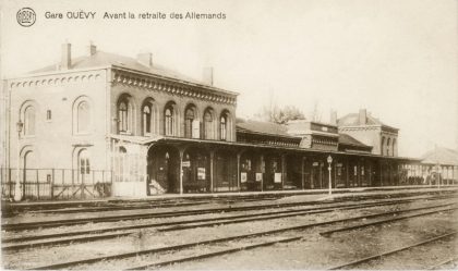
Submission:
{"label": "long steel rail meeting the bottom edge nearest the left corner", "polygon": [[[391,213],[393,212],[389,212],[388,214],[391,214]],[[258,237],[258,236],[263,236],[263,235],[273,235],[273,234],[278,234],[278,233],[284,233],[284,232],[289,232],[289,231],[301,231],[301,230],[305,230],[305,229],[310,229],[310,227],[314,227],[314,226],[329,225],[329,224],[339,223],[339,222],[347,222],[347,221],[364,219],[364,218],[367,218],[367,217],[386,215],[386,214],[387,213],[360,215],[360,217],[354,217],[354,218],[346,218],[346,219],[330,220],[330,221],[324,221],[324,222],[317,222],[317,223],[280,227],[280,229],[276,229],[276,230],[264,231],[264,232],[242,234],[242,235],[236,235],[236,236],[229,236],[229,237],[216,238],[216,239],[208,239],[208,241],[201,241],[201,242],[182,244],[182,245],[174,245],[174,246],[169,246],[169,247],[159,247],[159,248],[137,250],[137,251],[132,251],[132,252],[101,256],[101,257],[83,259],[83,260],[53,263],[53,264],[50,264],[50,266],[32,268],[31,270],[62,269],[62,268],[69,268],[69,267],[74,267],[74,266],[79,266],[79,264],[89,264],[89,263],[94,263],[94,262],[98,262],[98,261],[103,261],[103,260],[123,259],[123,258],[129,258],[129,257],[134,257],[134,256],[155,254],[155,252],[164,252],[164,251],[170,251],[170,250],[179,250],[179,249],[184,249],[184,248],[189,248],[189,247],[217,244],[217,243],[224,243],[224,242],[229,242],[229,241],[234,241],[234,239]]]}

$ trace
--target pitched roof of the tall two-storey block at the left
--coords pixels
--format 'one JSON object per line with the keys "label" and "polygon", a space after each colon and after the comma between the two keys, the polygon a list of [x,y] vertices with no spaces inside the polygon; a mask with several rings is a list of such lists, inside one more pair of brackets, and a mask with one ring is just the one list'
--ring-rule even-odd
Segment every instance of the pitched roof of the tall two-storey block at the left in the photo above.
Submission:
{"label": "pitched roof of the tall two-storey block at the left", "polygon": [[[149,67],[149,66],[141,64],[134,58],[129,58],[129,57],[104,52],[104,51],[97,51],[93,56],[85,56],[85,57],[79,57],[79,58],[72,59],[71,69],[86,69],[86,67],[97,67],[97,66],[105,66],[105,65],[114,65],[114,66],[125,67],[125,69],[135,70],[135,71],[144,72],[144,73],[152,73],[152,74],[156,74],[156,75],[160,75],[165,77],[171,77],[174,79],[186,81],[194,84],[209,86],[208,84],[204,82],[196,81],[183,74],[177,73],[172,70],[169,70],[165,66],[157,65],[156,63],[153,65],[153,67]],[[45,72],[52,72],[52,71],[58,71],[58,67],[56,64],[32,71],[31,73],[45,73]]]}

